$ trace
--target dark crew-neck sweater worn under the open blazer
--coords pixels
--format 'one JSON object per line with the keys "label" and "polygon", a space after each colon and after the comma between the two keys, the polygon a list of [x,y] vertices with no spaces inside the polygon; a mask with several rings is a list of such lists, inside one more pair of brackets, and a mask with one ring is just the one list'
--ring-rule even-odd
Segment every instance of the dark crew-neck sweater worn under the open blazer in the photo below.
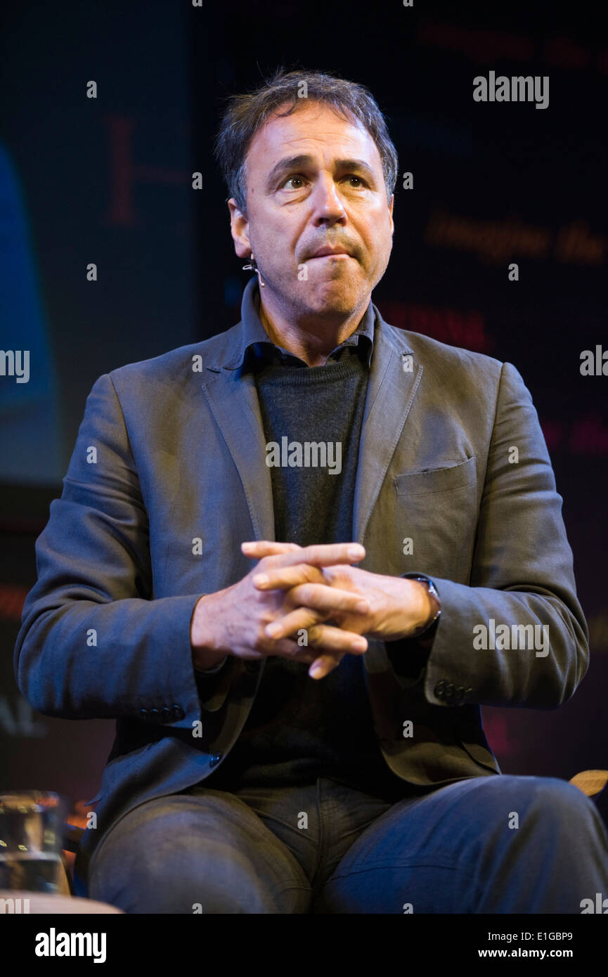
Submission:
{"label": "dark crew-neck sweater worn under the open blazer", "polygon": [[[338,349],[341,355],[323,366],[283,365],[270,349],[256,361],[267,463],[270,443],[279,448],[274,460],[282,462],[271,466],[271,477],[275,537],[283,542],[352,540],[369,366],[366,344]],[[315,467],[314,455],[306,466],[307,442],[326,444],[333,474],[328,466]],[[300,458],[292,443],[301,446]],[[292,464],[284,465],[289,455]],[[286,786],[321,776],[388,798],[407,790],[386,765],[375,738],[363,658],[345,655],[329,675],[315,680],[306,664],[271,656],[238,742],[204,786]]]}

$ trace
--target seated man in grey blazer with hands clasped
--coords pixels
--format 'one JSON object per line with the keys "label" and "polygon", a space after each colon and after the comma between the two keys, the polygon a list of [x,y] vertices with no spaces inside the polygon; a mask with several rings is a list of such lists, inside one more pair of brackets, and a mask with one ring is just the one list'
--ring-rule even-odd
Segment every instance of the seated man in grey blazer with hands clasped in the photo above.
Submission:
{"label": "seated man in grey blazer with hands clasped", "polygon": [[279,71],[216,151],[241,321],[97,380],[23,609],[23,695],[116,719],[77,891],[580,913],[608,891],[594,805],[502,775],[480,720],[559,706],[588,664],[530,394],[371,303],[397,157],[366,89]]}

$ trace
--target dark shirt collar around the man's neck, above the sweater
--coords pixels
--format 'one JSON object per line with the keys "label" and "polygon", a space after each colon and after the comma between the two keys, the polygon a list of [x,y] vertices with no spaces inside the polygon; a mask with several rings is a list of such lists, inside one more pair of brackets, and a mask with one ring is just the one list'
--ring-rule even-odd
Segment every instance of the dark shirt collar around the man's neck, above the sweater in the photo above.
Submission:
{"label": "dark shirt collar around the man's neck, above the sweater", "polygon": [[[232,369],[239,366],[254,364],[280,364],[284,366],[308,366],[308,363],[296,357],[293,353],[276,346],[268,336],[259,315],[260,289],[257,276],[253,276],[245,285],[240,306],[242,321],[242,340],[235,360],[227,364]],[[331,351],[328,361],[339,361],[342,356],[358,353],[366,365],[371,364],[373,352],[373,328],[375,313],[373,304],[368,308],[355,331],[343,343]]]}

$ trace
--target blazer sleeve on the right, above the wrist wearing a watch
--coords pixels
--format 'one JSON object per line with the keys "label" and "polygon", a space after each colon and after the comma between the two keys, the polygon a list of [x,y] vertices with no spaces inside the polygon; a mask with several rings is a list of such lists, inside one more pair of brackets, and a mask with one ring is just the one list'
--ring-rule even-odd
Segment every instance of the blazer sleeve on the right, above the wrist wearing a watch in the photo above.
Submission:
{"label": "blazer sleeve on the right, above the wrist wearing a watch", "polygon": [[[513,447],[517,461],[509,460]],[[419,678],[413,681],[415,669],[409,677],[395,670],[404,688],[422,683],[426,701],[444,706],[553,709],[570,699],[589,650],[562,501],[531,394],[504,362],[470,585],[432,574],[441,618]],[[508,626],[508,648],[491,647],[499,624]],[[534,631],[524,632],[527,625]],[[506,646],[504,634],[494,644]]]}

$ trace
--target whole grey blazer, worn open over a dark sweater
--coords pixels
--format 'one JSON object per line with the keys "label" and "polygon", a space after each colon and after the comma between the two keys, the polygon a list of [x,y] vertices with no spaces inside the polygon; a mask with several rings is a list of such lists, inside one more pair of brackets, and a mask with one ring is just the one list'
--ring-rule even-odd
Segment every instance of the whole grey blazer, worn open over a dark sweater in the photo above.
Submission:
{"label": "whole grey blazer, worn open over a dark sweater", "polygon": [[[375,733],[386,763],[413,784],[496,776],[480,705],[556,708],[588,666],[562,499],[510,363],[373,311],[354,537],[367,550],[363,569],[426,573],[442,602],[418,681],[400,678],[385,644],[369,642]],[[76,862],[83,877],[118,818],[221,763],[264,672],[264,660],[229,658],[217,677],[200,678],[190,645],[199,596],[251,569],[240,543],[275,538],[255,386],[235,367],[241,349],[242,320],[101,376],[36,543],[38,579],[15,649],[22,695],[46,715],[116,720],[87,802],[99,804]],[[537,625],[548,653],[479,650],[474,628],[491,619]]]}

